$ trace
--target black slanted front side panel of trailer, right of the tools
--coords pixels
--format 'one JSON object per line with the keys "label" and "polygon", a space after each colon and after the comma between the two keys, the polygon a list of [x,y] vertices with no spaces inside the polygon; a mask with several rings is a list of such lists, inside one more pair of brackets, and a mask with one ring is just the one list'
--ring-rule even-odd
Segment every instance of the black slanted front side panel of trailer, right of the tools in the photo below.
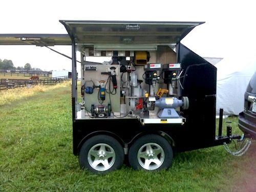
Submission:
{"label": "black slanted front side panel of trailer, right of the tools", "polygon": [[216,129],[217,69],[182,44],[179,45],[178,62],[185,69],[181,94],[189,99],[189,109],[183,111],[190,134],[187,139],[198,148],[211,145]]}

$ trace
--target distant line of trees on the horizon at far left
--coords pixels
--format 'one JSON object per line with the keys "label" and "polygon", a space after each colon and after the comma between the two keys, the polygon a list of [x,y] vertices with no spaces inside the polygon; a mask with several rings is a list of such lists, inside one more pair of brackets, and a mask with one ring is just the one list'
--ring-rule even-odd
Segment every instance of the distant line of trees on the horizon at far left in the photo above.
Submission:
{"label": "distant line of trees on the horizon at far left", "polygon": [[26,63],[24,67],[15,67],[12,60],[8,59],[0,59],[0,70],[42,71],[39,68],[32,68],[30,63]]}

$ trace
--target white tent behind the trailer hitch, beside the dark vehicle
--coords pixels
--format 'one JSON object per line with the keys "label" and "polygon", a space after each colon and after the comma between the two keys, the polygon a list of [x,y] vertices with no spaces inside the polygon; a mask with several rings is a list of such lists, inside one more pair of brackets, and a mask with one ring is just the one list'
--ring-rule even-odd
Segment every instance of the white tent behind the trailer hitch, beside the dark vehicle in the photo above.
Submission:
{"label": "white tent behind the trailer hitch, beside the dark vehicle", "polygon": [[[241,55],[241,53],[239,54]],[[256,71],[256,55],[233,54],[218,62],[217,67],[217,105],[227,115],[238,115],[244,110],[244,93],[251,76]]]}

